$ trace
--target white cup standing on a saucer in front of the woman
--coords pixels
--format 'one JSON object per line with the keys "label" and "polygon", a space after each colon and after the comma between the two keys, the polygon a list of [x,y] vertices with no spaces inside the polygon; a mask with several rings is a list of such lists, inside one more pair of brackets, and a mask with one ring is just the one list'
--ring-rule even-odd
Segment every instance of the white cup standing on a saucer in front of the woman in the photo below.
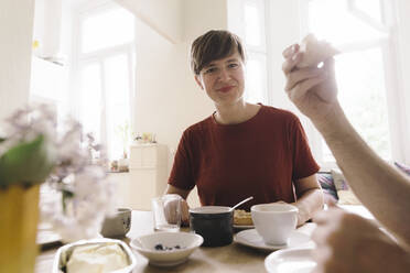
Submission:
{"label": "white cup standing on a saucer in front of the woman", "polygon": [[288,244],[298,225],[298,211],[290,204],[260,204],[250,208],[252,221],[259,236],[267,244]]}

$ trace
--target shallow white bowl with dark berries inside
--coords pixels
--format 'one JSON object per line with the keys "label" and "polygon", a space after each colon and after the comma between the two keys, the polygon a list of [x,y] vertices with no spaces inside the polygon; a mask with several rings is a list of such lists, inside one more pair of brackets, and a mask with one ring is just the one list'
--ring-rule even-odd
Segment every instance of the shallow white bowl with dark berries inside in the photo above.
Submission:
{"label": "shallow white bowl with dark berries inside", "polygon": [[[131,248],[144,255],[150,264],[158,266],[173,266],[187,260],[204,239],[188,232],[154,232],[141,236],[131,241]],[[155,250],[155,245],[172,248],[172,250]],[[175,247],[180,248],[176,249]]]}

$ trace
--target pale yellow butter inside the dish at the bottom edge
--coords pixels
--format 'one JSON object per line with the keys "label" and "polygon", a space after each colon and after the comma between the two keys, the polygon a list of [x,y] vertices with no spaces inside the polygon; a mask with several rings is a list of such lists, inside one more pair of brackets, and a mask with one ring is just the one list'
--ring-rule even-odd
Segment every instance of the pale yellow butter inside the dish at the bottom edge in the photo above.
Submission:
{"label": "pale yellow butter inside the dish at the bottom edge", "polygon": [[66,264],[67,273],[108,273],[130,263],[118,243],[91,243],[73,250]]}

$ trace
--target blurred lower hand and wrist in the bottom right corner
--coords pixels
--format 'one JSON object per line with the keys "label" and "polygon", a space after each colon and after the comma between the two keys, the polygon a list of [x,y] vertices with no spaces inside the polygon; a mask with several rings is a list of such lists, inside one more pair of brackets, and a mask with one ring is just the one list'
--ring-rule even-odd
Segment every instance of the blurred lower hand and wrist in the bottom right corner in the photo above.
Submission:
{"label": "blurred lower hand and wrist in the bottom right corner", "polygon": [[408,272],[410,254],[371,221],[331,208],[313,219],[317,228],[315,273]]}

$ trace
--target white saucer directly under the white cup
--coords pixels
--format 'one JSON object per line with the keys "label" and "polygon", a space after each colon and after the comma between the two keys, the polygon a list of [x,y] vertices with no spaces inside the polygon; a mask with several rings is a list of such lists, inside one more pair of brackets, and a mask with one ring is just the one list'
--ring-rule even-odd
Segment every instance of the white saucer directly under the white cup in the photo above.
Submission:
{"label": "white saucer directly under the white cup", "polygon": [[290,249],[290,248],[298,248],[298,247],[314,247],[313,241],[310,239],[309,236],[302,233],[298,230],[293,231],[289,238],[288,244],[267,244],[263,242],[262,238],[258,234],[256,229],[248,229],[238,232],[234,241],[250,248],[273,251],[278,249]]}

